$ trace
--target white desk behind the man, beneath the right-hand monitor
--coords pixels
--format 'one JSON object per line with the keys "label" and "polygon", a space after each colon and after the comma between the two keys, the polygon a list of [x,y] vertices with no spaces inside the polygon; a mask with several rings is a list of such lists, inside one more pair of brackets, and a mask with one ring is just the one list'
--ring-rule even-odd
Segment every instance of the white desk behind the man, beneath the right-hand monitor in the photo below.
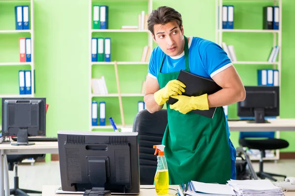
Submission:
{"label": "white desk behind the man, beneath the right-hand monitor", "polygon": [[295,131],[295,119],[267,119],[270,123],[228,121],[230,131]]}

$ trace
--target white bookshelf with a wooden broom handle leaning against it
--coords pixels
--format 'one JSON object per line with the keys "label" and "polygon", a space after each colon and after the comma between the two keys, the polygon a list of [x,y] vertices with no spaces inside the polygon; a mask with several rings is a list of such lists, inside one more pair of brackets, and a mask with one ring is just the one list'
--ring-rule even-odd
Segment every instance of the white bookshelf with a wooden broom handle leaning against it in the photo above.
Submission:
{"label": "white bookshelf with a wooden broom handle leaning against it", "polygon": [[[93,5],[109,6],[108,29],[93,29]],[[129,6],[128,12],[124,11],[127,6]],[[131,116],[137,113],[138,101],[143,100],[144,97],[140,88],[145,77],[140,75],[148,74],[147,59],[151,54],[153,40],[146,28],[121,29],[121,26],[138,25],[137,15],[141,14],[142,10],[145,14],[149,14],[152,11],[152,0],[89,0],[89,131],[113,129],[109,123],[109,117],[114,119],[118,128],[132,127]],[[111,62],[92,62],[91,40],[93,37],[111,38]],[[133,37],[136,41],[130,43]],[[145,46],[148,46],[149,51],[146,60],[142,61],[141,55]],[[108,93],[102,95],[93,93],[91,84],[92,78],[101,75],[104,75],[108,89]],[[133,88],[137,90],[132,90]],[[92,126],[91,103],[93,100],[98,103],[99,101],[106,102],[106,125],[99,126],[98,122],[97,126]],[[99,108],[97,113],[99,118]],[[129,123],[125,123],[125,114],[129,116]]]}

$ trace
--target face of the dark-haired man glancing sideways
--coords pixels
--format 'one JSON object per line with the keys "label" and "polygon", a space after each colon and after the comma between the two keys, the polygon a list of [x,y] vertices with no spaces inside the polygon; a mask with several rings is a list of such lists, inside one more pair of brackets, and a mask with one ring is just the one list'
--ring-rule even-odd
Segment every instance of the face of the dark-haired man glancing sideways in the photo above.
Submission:
{"label": "face of the dark-haired man glancing sideways", "polygon": [[177,22],[169,22],[165,25],[154,25],[153,40],[163,52],[169,56],[181,54],[184,46],[183,27],[179,28]]}

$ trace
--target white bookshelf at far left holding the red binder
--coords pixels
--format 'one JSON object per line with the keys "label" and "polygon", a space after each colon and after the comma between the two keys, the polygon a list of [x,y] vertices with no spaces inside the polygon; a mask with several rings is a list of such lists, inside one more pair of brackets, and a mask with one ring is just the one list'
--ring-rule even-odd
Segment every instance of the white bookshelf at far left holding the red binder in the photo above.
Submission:
{"label": "white bookshelf at far left holding the red binder", "polygon": [[[15,27],[15,6],[28,5],[29,6],[29,29],[16,30]],[[9,93],[1,91],[0,98],[29,98],[34,97],[34,0],[0,0],[0,68],[7,71],[5,74],[13,79],[8,81],[1,80],[0,88]],[[20,62],[19,57],[19,38],[30,38],[31,61]],[[11,41],[11,42],[10,42]],[[2,48],[1,45],[3,45]],[[5,67],[5,70],[4,70]],[[19,70],[31,71],[31,94],[19,95]],[[8,76],[7,76],[8,77]],[[7,78],[5,77],[5,78]],[[15,81],[17,80],[17,81]],[[12,90],[13,89],[13,90]]]}

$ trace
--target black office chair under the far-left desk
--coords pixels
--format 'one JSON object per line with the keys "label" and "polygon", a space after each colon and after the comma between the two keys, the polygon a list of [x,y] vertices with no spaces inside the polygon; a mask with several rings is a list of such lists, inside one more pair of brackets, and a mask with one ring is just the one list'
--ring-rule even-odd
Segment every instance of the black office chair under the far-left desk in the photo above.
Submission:
{"label": "black office chair under the far-left desk", "polygon": [[19,188],[19,177],[17,175],[17,166],[18,163],[23,161],[24,159],[33,158],[37,159],[40,157],[45,157],[45,154],[9,154],[7,155],[8,162],[8,170],[13,171],[13,167],[15,166],[15,176],[14,176],[14,188],[10,189],[10,195],[15,196],[29,196],[28,194],[41,194],[41,191],[32,191],[27,189]]}

